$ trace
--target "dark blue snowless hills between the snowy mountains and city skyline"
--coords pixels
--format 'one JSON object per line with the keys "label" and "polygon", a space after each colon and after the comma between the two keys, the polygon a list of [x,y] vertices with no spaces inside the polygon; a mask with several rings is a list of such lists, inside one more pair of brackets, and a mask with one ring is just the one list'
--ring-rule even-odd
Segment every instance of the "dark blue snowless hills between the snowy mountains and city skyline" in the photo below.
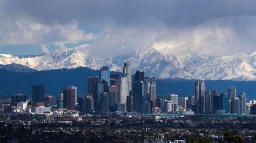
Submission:
{"label": "dark blue snowless hills between the snowy mountains and city skyline", "polygon": [[[114,72],[118,73],[118,72]],[[119,73],[121,74],[121,73]],[[45,94],[59,96],[63,88],[76,86],[78,96],[83,96],[87,91],[87,76],[99,75],[99,70],[78,67],[75,69],[55,69],[33,71],[30,73],[17,73],[0,69],[0,96],[12,94],[26,94],[31,96],[32,84],[44,84]],[[247,99],[256,99],[256,81],[206,81],[207,89],[227,92],[228,87],[237,87],[237,94],[247,93]],[[193,95],[194,80],[180,78],[167,78],[157,80],[157,94],[178,94],[179,96]]]}

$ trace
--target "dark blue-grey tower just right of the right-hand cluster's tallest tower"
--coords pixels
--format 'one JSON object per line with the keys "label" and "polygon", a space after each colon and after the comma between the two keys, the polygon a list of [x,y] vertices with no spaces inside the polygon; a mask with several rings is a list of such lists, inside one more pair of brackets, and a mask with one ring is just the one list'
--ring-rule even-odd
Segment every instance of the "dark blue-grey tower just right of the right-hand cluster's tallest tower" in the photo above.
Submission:
{"label": "dark blue-grey tower just right of the right-hand cluster's tallest tower", "polygon": [[218,95],[217,90],[206,90],[205,91],[205,112],[213,112],[213,96]]}

